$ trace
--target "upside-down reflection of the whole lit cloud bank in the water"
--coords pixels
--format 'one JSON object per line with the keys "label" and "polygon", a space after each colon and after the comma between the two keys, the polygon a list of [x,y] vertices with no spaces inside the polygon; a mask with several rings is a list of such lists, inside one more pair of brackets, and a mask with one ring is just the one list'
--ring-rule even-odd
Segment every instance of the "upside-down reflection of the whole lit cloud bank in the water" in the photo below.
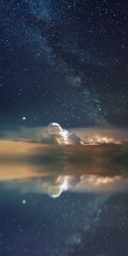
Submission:
{"label": "upside-down reflection of the whole lit cloud bank in the water", "polygon": [[97,175],[78,175],[76,182],[75,176],[49,176],[49,177],[31,177],[26,179],[17,179],[3,183],[5,189],[17,189],[21,193],[39,193],[47,194],[53,198],[61,195],[64,191],[72,192],[121,192],[128,189],[128,177],[100,177]]}

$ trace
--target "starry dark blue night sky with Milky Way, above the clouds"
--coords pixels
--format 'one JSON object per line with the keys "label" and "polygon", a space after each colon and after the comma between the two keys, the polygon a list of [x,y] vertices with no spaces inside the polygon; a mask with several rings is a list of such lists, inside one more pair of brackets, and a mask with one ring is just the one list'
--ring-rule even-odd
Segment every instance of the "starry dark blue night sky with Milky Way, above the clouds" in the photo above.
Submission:
{"label": "starry dark blue night sky with Milky Way, above the clouds", "polygon": [[127,14],[125,0],[0,1],[1,129],[127,126]]}

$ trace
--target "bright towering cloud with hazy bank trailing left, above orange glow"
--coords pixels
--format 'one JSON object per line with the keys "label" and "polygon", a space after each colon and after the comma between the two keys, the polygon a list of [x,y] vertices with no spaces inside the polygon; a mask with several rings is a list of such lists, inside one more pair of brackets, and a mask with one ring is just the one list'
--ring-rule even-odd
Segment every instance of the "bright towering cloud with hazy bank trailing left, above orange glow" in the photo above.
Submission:
{"label": "bright towering cloud with hazy bank trailing left, above orange glow", "polygon": [[20,127],[18,131],[3,132],[3,137],[12,140],[23,140],[27,142],[45,143],[45,144],[80,144],[80,137],[73,134],[57,123],[51,123],[45,127],[26,128]]}

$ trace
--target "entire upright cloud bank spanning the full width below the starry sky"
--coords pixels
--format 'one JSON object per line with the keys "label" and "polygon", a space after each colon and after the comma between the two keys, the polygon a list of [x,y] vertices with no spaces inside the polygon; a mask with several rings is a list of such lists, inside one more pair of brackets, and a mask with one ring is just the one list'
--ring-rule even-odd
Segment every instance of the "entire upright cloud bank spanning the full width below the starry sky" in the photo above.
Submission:
{"label": "entire upright cloud bank spanning the full width below the starry sky", "polygon": [[3,131],[3,139],[27,141],[32,143],[80,145],[99,143],[128,143],[128,132],[125,128],[73,128],[63,129],[60,124],[34,128],[20,127],[17,131]]}

